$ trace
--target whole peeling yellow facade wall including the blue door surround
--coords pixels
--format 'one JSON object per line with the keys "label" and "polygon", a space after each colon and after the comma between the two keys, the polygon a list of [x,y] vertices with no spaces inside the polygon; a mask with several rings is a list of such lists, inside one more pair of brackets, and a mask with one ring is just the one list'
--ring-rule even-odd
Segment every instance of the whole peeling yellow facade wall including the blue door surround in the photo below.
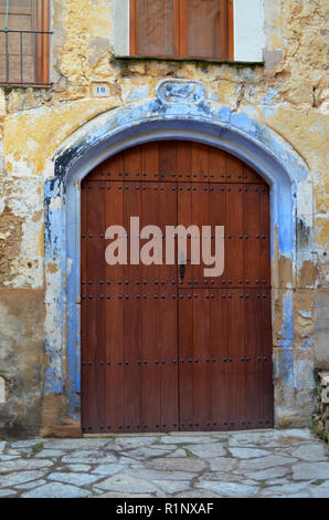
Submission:
{"label": "whole peeling yellow facade wall including the blue door surround", "polygon": [[[44,326],[43,435],[78,430],[78,189],[71,179],[78,185],[114,150],[166,136],[221,146],[270,185],[276,420],[307,424],[314,367],[329,363],[327,14],[320,0],[267,0],[264,15],[265,67],[129,61],[113,58],[112,0],[55,0],[53,86],[0,87],[0,285],[18,297],[45,290],[44,319],[21,312],[14,332],[12,319],[3,331],[10,356],[14,335],[25,344],[26,320],[38,334]],[[95,82],[110,95],[94,97]],[[23,356],[18,366],[28,382]],[[12,428],[21,422],[31,431],[12,392]],[[9,420],[0,417],[0,428]]]}

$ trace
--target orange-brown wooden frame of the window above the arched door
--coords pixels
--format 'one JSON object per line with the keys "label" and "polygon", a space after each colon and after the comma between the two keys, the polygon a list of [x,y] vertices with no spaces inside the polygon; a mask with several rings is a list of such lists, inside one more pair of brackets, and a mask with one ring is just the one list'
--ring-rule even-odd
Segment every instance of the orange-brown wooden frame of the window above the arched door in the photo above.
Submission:
{"label": "orange-brown wooden frame of the window above the arched door", "polygon": [[144,54],[138,49],[138,10],[139,0],[129,0],[129,55],[131,58],[161,58],[167,60],[202,60],[202,61],[233,61],[234,60],[234,14],[232,0],[221,2],[221,58],[195,56],[188,53],[188,1],[173,0],[173,54]]}

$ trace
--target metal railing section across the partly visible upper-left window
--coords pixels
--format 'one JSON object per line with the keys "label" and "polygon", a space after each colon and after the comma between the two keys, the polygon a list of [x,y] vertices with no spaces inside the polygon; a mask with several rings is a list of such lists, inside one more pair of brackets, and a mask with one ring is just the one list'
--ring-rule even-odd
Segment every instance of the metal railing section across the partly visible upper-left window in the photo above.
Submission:
{"label": "metal railing section across the partly visible upper-left window", "polygon": [[0,85],[49,86],[51,35],[51,31],[0,30]]}

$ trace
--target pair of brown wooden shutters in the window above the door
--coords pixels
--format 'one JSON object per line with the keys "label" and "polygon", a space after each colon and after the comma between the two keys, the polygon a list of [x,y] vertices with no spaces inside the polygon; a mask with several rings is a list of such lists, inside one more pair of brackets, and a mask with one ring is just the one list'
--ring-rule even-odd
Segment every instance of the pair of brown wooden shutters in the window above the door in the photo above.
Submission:
{"label": "pair of brown wooden shutters in the window above the door", "polygon": [[130,55],[227,60],[229,0],[130,0]]}

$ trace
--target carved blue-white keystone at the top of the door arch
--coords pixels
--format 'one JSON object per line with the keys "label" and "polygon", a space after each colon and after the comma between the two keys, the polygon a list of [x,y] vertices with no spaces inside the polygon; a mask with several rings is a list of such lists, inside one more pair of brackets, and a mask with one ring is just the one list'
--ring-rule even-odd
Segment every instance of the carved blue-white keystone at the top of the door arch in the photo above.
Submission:
{"label": "carved blue-white keystone at the top of the door arch", "polygon": [[164,104],[197,105],[205,98],[202,83],[188,80],[164,80],[157,89],[157,97]]}

